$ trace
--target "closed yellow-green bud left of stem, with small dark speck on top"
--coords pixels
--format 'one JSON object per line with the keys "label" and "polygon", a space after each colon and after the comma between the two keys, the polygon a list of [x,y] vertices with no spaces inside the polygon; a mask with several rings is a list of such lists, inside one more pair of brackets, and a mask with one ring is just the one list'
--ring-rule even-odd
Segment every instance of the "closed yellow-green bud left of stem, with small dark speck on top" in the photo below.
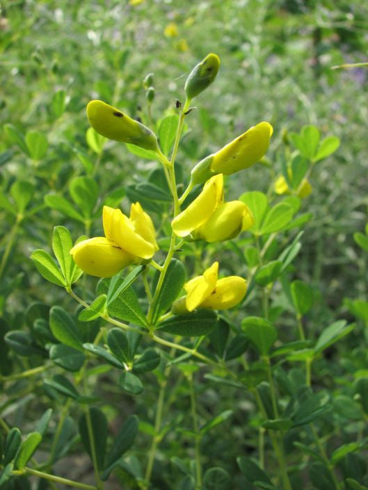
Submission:
{"label": "closed yellow-green bud left of stem, with small dark speck on top", "polygon": [[105,138],[157,150],[157,137],[150,129],[101,100],[88,103],[87,117],[93,129]]}

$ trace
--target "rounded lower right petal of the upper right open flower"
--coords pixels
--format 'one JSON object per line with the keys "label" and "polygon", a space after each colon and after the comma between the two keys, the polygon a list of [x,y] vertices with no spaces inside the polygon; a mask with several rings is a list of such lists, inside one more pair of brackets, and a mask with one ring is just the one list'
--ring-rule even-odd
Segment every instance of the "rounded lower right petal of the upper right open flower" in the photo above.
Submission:
{"label": "rounded lower right petal of the upper right open flower", "polygon": [[193,232],[193,236],[209,243],[229,240],[252,225],[253,215],[246,204],[241,201],[225,202]]}

